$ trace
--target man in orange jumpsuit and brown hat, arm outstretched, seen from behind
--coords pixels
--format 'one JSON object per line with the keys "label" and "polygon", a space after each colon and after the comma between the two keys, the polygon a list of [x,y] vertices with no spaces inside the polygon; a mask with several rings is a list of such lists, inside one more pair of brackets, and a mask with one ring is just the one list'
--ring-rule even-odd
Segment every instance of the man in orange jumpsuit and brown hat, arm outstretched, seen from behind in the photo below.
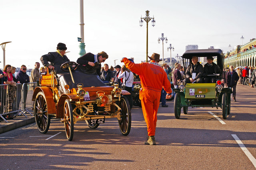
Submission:
{"label": "man in orange jumpsuit and brown hat, arm outstretched, seen from behind", "polygon": [[[149,57],[149,56],[148,56]],[[140,100],[144,119],[148,127],[148,140],[144,144],[155,145],[156,114],[158,111],[162,87],[167,92],[166,99],[172,96],[171,84],[164,69],[158,64],[162,59],[157,53],[153,53],[150,63],[135,64],[126,57],[122,59],[125,66],[140,76],[141,87]]]}

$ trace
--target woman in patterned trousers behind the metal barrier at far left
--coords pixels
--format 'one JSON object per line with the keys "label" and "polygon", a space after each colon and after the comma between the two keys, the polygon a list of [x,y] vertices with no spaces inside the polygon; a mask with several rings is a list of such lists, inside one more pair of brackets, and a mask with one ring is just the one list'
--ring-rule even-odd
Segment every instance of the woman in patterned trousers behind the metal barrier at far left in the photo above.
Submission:
{"label": "woman in patterned trousers behind the metal barrier at far left", "polygon": [[[7,87],[7,112],[12,112],[12,103],[14,98],[16,97],[16,82],[13,80],[13,75],[11,72],[11,65],[6,65],[4,67],[4,73],[7,74],[8,80],[4,82],[4,84],[8,84],[9,86]],[[13,113],[10,113],[7,115],[7,119],[12,119],[13,118]]]}

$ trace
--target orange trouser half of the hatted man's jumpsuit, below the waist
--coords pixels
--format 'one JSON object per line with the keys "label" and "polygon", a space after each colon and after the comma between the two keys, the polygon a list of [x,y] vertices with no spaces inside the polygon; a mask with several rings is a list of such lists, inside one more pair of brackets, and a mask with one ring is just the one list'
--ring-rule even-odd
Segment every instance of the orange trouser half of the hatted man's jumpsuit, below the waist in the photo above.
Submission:
{"label": "orange trouser half of the hatted man's jumpsuit, below the waist", "polygon": [[[142,92],[142,93],[141,93]],[[140,101],[142,112],[148,128],[148,136],[155,136],[157,111],[160,104],[161,91],[142,89]]]}

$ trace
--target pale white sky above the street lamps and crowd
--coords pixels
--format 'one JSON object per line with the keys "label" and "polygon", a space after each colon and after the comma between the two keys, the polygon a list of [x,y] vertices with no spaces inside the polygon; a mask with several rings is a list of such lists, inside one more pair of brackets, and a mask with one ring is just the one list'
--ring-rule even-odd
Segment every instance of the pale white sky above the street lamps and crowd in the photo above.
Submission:
{"label": "pale white sky above the street lamps and crowd", "polygon": [[[33,68],[59,42],[66,44],[70,61],[76,61],[79,6],[79,0],[0,0],[0,43],[12,42],[6,44],[6,64]],[[164,58],[170,57],[170,43],[172,57],[182,55],[189,44],[226,52],[229,44],[231,50],[242,44],[241,36],[243,44],[256,38],[255,6],[255,0],[84,0],[86,53],[105,51],[109,66],[115,59],[122,66],[122,57],[134,57],[135,63],[146,60],[146,22],[139,26],[146,10],[156,21],[148,27],[149,56],[155,52],[162,58],[162,41],[157,41],[162,33],[168,38]]]}

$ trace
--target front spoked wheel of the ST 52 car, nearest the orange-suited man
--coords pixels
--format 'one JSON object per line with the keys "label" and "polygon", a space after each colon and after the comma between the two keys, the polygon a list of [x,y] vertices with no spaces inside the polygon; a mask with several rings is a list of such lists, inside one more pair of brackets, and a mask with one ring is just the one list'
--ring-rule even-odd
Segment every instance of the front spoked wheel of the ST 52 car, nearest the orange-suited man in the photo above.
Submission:
{"label": "front spoked wheel of the ST 52 car, nearest the orange-suited man", "polygon": [[118,120],[119,128],[124,136],[127,136],[131,130],[132,114],[128,99],[121,97],[118,106],[121,108],[121,120]]}

